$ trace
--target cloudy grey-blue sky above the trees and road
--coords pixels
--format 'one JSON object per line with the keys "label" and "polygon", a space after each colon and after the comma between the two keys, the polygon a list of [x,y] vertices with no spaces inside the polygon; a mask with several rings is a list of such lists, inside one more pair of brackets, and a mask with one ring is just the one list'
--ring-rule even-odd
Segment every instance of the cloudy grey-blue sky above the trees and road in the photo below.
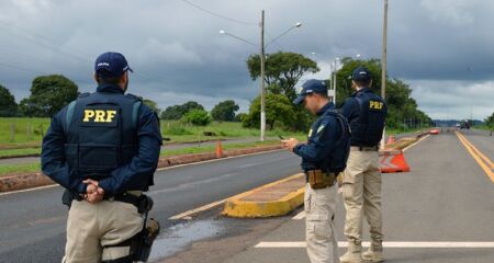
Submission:
{"label": "cloudy grey-blue sky above the trees and road", "polygon": [[[0,83],[16,101],[38,75],[63,73],[91,91],[94,58],[115,50],[135,70],[131,92],[161,108],[234,99],[246,111],[258,83],[245,60],[258,49],[218,31],[258,43],[262,9],[267,42],[303,23],[267,52],[315,59],[322,71],[305,78],[327,78],[337,56],[381,56],[382,0],[2,0]],[[406,80],[431,117],[494,111],[493,11],[485,0],[390,0],[389,76]]]}

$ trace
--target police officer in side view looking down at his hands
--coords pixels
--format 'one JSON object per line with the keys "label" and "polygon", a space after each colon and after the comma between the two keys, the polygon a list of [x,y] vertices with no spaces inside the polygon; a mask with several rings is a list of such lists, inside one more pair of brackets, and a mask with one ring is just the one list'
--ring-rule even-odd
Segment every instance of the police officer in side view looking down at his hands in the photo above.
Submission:
{"label": "police officer in side view looking down at his hands", "polygon": [[305,172],[305,238],[312,263],[335,263],[338,243],[333,224],[337,187],[336,176],[345,170],[350,137],[348,124],[329,102],[327,87],[321,80],[308,80],[294,101],[318,118],[308,133],[307,144],[294,138],[282,140],[283,146],[302,157]]}

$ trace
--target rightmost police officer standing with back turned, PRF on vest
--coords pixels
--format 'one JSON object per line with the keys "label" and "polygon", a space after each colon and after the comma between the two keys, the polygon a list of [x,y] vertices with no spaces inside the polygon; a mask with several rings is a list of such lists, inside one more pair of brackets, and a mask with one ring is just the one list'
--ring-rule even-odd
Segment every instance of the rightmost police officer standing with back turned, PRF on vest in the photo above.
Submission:
{"label": "rightmost police officer standing with back turned, PRF on vest", "polygon": [[[379,142],[381,141],[386,104],[370,87],[372,78],[368,69],[357,68],[352,73],[356,92],[348,98],[341,114],[351,127],[351,150],[343,179],[343,197],[347,210],[345,236],[348,251],[340,258],[343,263],[368,260],[384,261],[382,254],[381,171]],[[371,245],[361,253],[362,218],[370,225]]]}

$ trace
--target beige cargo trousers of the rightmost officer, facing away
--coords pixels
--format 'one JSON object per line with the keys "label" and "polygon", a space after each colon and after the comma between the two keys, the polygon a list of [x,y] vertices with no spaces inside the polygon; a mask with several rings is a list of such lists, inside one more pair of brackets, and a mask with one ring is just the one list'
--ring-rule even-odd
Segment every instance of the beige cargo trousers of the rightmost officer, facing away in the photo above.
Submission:
{"label": "beige cargo trousers of the rightmost officer, facing away", "polygon": [[345,236],[349,242],[360,245],[362,218],[370,227],[373,244],[381,244],[381,171],[378,151],[351,150],[343,179],[343,197],[347,210]]}

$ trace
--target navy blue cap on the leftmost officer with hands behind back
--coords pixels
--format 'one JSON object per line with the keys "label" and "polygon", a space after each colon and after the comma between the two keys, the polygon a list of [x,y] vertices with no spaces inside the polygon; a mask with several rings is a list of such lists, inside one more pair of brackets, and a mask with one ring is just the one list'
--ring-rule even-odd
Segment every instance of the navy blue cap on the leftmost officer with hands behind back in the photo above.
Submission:
{"label": "navy blue cap on the leftmost officer with hands behind back", "polygon": [[128,67],[125,57],[120,53],[103,53],[94,62],[94,72],[98,77],[120,77],[127,70],[134,72],[131,67]]}

